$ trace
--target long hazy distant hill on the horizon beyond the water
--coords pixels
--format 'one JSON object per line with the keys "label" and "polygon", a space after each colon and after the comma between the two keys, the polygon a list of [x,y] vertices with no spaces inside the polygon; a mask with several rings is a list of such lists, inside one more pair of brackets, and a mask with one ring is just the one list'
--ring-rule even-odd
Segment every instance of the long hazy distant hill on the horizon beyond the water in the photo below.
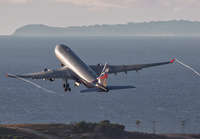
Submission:
{"label": "long hazy distant hill on the horizon beyond the water", "polygon": [[200,36],[200,22],[172,20],[116,25],[49,27],[26,25],[15,36]]}

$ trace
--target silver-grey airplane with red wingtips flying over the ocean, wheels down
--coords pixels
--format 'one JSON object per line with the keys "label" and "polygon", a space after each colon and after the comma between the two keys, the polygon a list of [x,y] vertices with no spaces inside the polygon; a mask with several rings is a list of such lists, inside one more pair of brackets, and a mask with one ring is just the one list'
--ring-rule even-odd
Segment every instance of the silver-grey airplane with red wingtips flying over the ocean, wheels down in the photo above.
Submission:
{"label": "silver-grey airplane with red wingtips flying over the ocean, wheels down", "polygon": [[136,64],[136,65],[87,65],[84,63],[68,46],[58,44],[55,47],[55,55],[61,62],[61,68],[50,70],[45,68],[42,72],[29,73],[22,75],[12,75],[6,73],[7,77],[19,77],[19,78],[32,78],[32,79],[43,79],[54,81],[55,78],[61,78],[65,81],[63,84],[64,91],[71,91],[68,80],[74,80],[74,86],[83,84],[86,88],[81,92],[108,92],[109,90],[115,89],[128,89],[134,88],[133,86],[107,86],[108,74],[115,74],[119,72],[136,71],[142,70],[143,68],[165,65],[173,63],[175,58],[168,62],[151,63],[151,64]]}

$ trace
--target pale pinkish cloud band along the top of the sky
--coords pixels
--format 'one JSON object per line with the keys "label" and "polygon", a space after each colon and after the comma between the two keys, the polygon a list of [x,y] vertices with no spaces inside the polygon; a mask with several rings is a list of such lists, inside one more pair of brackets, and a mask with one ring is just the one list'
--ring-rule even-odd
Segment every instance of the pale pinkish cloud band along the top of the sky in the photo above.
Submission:
{"label": "pale pinkish cloud band along the top of the sky", "polygon": [[[134,8],[144,6],[173,7],[179,11],[178,7],[187,7],[187,5],[200,5],[200,0],[54,0],[56,2],[68,2],[75,5],[85,5],[98,8]],[[94,8],[93,8],[94,7]],[[182,8],[181,8],[182,9]]]}

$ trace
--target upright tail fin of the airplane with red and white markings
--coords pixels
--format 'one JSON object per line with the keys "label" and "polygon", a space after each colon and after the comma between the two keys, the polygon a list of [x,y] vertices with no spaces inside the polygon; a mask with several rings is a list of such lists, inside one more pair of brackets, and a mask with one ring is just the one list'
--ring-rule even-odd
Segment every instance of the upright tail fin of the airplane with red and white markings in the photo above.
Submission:
{"label": "upright tail fin of the airplane with red and white markings", "polygon": [[107,86],[108,72],[109,72],[109,65],[108,63],[106,63],[101,72],[101,75],[98,78],[98,83],[102,85],[103,87]]}

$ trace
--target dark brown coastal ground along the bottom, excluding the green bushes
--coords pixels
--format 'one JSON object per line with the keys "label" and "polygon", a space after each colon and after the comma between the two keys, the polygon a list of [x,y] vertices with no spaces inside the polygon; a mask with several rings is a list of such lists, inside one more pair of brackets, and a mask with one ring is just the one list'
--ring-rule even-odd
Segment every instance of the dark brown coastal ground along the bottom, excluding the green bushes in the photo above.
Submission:
{"label": "dark brown coastal ground along the bottom, excluding the green bushes", "polygon": [[[0,125],[0,137],[7,138],[107,138],[111,139],[114,136],[105,135],[103,133],[89,133],[83,132],[79,133],[77,131],[72,130],[73,125],[71,124],[7,124]],[[200,134],[150,134],[143,132],[130,132],[124,131],[118,136],[119,139],[127,139],[127,138],[158,138],[158,139],[198,139],[200,138]]]}

